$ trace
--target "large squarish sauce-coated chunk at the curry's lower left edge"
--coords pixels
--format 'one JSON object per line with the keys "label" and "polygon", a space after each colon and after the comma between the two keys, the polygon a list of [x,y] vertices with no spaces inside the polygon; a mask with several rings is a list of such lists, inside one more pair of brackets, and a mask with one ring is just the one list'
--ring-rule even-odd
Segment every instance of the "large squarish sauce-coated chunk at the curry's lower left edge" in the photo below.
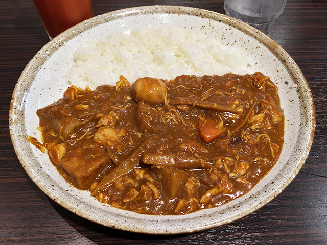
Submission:
{"label": "large squarish sauce-coated chunk at the curry's lower left edge", "polygon": [[87,189],[94,179],[111,164],[113,165],[107,151],[88,140],[67,153],[58,165],[66,171],[80,189]]}

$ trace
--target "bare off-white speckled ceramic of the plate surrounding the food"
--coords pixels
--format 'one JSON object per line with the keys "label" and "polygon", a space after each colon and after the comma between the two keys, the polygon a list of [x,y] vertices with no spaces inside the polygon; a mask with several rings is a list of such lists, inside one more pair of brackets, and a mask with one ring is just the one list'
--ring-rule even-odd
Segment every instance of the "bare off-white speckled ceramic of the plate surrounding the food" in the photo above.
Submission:
{"label": "bare off-white speckled ceramic of the plate surrounding the food", "polygon": [[[63,95],[73,52],[88,37],[125,32],[134,27],[195,28],[246,55],[248,72],[261,71],[277,84],[285,112],[285,144],[281,158],[250,192],[223,206],[180,216],[152,216],[103,205],[58,174],[47,154],[27,141],[40,138],[36,110]],[[313,140],[315,111],[310,88],[293,59],[266,35],[222,14],[177,6],[147,6],[96,16],[46,44],[22,72],[10,107],[10,134],[19,161],[35,184],[72,212],[104,226],[150,233],[177,234],[220,226],[261,208],[278,195],[305,162]]]}

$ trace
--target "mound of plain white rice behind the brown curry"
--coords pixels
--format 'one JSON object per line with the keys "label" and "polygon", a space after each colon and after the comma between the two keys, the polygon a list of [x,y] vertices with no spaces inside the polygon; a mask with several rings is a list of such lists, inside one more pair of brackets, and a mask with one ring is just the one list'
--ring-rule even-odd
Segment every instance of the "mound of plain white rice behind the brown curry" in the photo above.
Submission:
{"label": "mound of plain white rice behind the brown curry", "polygon": [[95,89],[114,85],[123,75],[133,83],[141,77],[173,79],[186,75],[245,74],[246,57],[233,47],[196,30],[137,28],[87,40],[74,53],[69,84]]}

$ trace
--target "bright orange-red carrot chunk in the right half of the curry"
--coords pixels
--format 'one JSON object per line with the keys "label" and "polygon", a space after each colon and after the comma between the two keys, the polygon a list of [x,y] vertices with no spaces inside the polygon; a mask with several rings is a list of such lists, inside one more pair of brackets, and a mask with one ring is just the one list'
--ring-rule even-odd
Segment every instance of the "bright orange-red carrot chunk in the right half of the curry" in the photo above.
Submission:
{"label": "bright orange-red carrot chunk in the right half of the curry", "polygon": [[200,139],[208,144],[219,136],[226,133],[226,128],[223,125],[223,122],[217,122],[213,119],[200,119],[198,124],[198,131]]}

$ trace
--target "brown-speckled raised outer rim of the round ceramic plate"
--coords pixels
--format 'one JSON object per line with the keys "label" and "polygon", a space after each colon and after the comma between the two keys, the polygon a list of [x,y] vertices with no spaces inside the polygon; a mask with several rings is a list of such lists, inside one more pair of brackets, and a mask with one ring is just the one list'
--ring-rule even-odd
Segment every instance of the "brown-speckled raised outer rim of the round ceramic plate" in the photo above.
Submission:
{"label": "brown-speckled raised outer rim of the round ceramic plate", "polygon": [[[246,35],[258,40],[265,47],[267,47],[283,63],[284,67],[288,70],[289,75],[292,77],[294,83],[298,86],[297,95],[299,97],[300,103],[299,108],[302,108],[300,111],[302,120],[299,125],[299,134],[296,139],[296,144],[298,145],[298,148],[296,148],[296,150],[294,150],[294,153],[292,153],[293,158],[291,159],[296,161],[296,164],[294,165],[296,167],[285,170],[286,173],[284,173],[285,175],[283,177],[283,181],[274,178],[269,180],[267,184],[262,187],[262,192],[267,193],[266,195],[261,195],[261,193],[258,192],[248,193],[247,200],[257,200],[256,202],[254,202],[254,205],[249,205],[251,203],[248,203],[247,200],[243,199],[241,203],[233,201],[226,205],[226,207],[224,208],[202,210],[193,214],[181,216],[152,216],[135,214],[132,212],[121,212],[121,210],[117,210],[118,214],[114,213],[112,215],[117,215],[121,217],[122,220],[119,223],[112,222],[110,218],[103,219],[99,216],[95,217],[94,213],[87,211],[85,212],[83,208],[76,207],[74,203],[70,203],[63,197],[58,197],[57,195],[54,195],[53,191],[47,186],[44,186],[44,184],[42,183],[42,181],[44,181],[42,180],[43,176],[38,176],[37,173],[41,173],[41,169],[36,169],[36,171],[35,169],[33,169],[38,167],[37,160],[28,159],[26,157],[26,154],[22,153],[22,151],[26,151],[27,155],[31,153],[30,149],[25,149],[27,147],[27,138],[26,135],[24,135],[24,110],[26,106],[26,100],[28,100],[28,96],[26,96],[26,91],[29,90],[31,84],[33,83],[33,78],[37,74],[42,64],[44,64],[44,62],[46,62],[46,60],[48,60],[52,56],[52,54],[56,52],[56,50],[58,50],[60,46],[64,45],[67,41],[69,41],[69,39],[82,34],[85,30],[91,29],[92,27],[97,26],[100,23],[111,21],[113,19],[125,18],[132,15],[142,15],[148,13],[165,13],[197,16],[199,18],[217,20],[223,22],[231,28],[236,28],[244,32]],[[27,174],[31,177],[35,184],[58,204],[86,219],[91,220],[92,222],[116,229],[149,234],[180,234],[201,231],[219,225],[227,224],[229,222],[232,222],[233,220],[239,219],[250,214],[251,212],[261,208],[262,206],[270,202],[273,198],[275,198],[276,195],[278,195],[287,185],[289,185],[289,183],[297,175],[302,165],[305,163],[314,136],[315,110],[310,88],[299,67],[296,65],[294,60],[283,50],[281,46],[279,46],[276,42],[274,42],[265,34],[239,20],[207,10],[180,6],[144,6],[113,11],[100,16],[96,16],[65,31],[64,33],[60,34],[52,41],[50,41],[48,44],[46,44],[29,62],[29,64],[26,66],[25,70],[22,72],[18,80],[18,83],[13,92],[12,101],[10,105],[9,125],[12,143],[22,166],[25,168]],[[44,178],[46,178],[46,176]],[[269,189],[271,186],[273,186],[273,191]],[[242,204],[242,202],[244,202],[245,204]],[[244,205],[247,206],[245,207]],[[220,212],[220,215],[222,216],[225,211],[228,212],[228,209],[234,209],[235,212],[231,216],[218,219],[216,214],[213,212],[216,209],[218,210],[217,212]],[[198,218],[199,220],[201,219],[201,222],[199,222],[198,224],[194,222],[194,219],[196,218]],[[142,222],[140,222],[141,219],[143,219],[147,224],[143,224]]]}

